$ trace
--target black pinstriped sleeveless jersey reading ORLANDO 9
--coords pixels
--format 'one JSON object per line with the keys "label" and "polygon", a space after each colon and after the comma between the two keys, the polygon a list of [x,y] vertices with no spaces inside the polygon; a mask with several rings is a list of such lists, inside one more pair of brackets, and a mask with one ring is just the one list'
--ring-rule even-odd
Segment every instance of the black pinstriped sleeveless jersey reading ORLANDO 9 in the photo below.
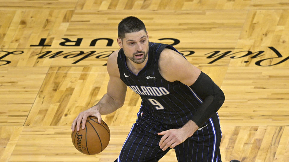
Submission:
{"label": "black pinstriped sleeveless jersey reading ORLANDO 9", "polygon": [[178,52],[170,45],[150,42],[148,61],[137,75],[128,69],[123,49],[117,58],[120,79],[142,100],[137,124],[155,131],[185,125],[201,102],[189,86],[179,81],[169,82],[161,76],[158,60],[165,48]]}

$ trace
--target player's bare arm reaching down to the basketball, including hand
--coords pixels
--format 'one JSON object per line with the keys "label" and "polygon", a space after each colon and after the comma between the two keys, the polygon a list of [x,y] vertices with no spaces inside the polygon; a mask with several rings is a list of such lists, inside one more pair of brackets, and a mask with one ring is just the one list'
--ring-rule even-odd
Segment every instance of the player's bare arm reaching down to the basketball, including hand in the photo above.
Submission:
{"label": "player's bare arm reaching down to the basketball, including hand", "polygon": [[[107,60],[107,72],[109,74],[109,81],[107,85],[107,93],[103,95],[101,100],[96,105],[85,110],[73,120],[71,129],[79,131],[80,123],[85,123],[88,116],[95,116],[98,118],[98,123],[101,123],[101,115],[110,114],[122,107],[126,97],[127,86],[120,79],[120,72],[117,65],[117,55],[119,50],[114,51]],[[82,125],[82,129],[85,125]]]}

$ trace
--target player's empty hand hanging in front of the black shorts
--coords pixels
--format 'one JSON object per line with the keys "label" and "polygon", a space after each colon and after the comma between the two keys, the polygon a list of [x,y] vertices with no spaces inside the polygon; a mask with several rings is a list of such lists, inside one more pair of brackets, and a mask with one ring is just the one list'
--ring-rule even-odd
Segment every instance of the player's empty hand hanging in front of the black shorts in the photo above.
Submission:
{"label": "player's empty hand hanging in front of the black shorts", "polygon": [[163,135],[160,139],[159,146],[165,151],[167,148],[174,148],[180,143],[184,142],[188,137],[188,131],[185,131],[182,128],[179,129],[169,129],[166,131],[162,131],[157,133],[158,135]]}

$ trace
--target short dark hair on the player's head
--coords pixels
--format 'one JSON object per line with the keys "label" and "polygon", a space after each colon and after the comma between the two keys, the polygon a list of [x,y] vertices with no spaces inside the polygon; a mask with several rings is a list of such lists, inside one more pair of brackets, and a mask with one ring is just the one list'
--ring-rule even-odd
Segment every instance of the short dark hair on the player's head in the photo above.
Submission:
{"label": "short dark hair on the player's head", "polygon": [[126,33],[134,33],[141,30],[147,32],[144,26],[144,22],[134,16],[129,16],[121,20],[121,22],[118,24],[117,35],[118,38],[123,40]]}

